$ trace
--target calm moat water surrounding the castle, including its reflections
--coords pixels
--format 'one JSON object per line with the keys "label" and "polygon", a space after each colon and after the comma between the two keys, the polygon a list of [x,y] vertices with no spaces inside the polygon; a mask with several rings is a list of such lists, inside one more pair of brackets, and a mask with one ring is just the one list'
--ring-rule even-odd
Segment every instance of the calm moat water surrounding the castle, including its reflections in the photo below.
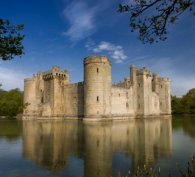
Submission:
{"label": "calm moat water surrounding the castle, including its reflections", "polygon": [[[118,177],[138,166],[178,176],[195,155],[195,117],[0,120],[0,177]],[[180,168],[181,168],[180,167]]]}

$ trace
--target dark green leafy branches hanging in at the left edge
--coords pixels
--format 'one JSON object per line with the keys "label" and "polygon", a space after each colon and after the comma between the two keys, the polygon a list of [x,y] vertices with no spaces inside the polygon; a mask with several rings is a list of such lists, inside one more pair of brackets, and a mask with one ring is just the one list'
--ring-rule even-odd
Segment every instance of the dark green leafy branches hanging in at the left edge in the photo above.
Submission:
{"label": "dark green leafy branches hanging in at the left edge", "polygon": [[11,60],[24,54],[24,35],[20,33],[23,28],[23,25],[13,26],[8,20],[0,19],[0,59]]}

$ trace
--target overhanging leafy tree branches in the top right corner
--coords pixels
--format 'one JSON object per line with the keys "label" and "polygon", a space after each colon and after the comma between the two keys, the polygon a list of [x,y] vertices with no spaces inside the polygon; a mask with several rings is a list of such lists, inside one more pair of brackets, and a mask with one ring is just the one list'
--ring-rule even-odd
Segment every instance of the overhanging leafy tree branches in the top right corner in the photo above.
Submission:
{"label": "overhanging leafy tree branches in the top right corner", "polygon": [[[131,1],[131,0],[129,0]],[[138,30],[143,43],[167,39],[167,26],[174,24],[183,12],[193,12],[195,0],[133,0],[119,4],[119,12],[130,13],[131,31]],[[193,12],[194,13],[194,12]]]}

